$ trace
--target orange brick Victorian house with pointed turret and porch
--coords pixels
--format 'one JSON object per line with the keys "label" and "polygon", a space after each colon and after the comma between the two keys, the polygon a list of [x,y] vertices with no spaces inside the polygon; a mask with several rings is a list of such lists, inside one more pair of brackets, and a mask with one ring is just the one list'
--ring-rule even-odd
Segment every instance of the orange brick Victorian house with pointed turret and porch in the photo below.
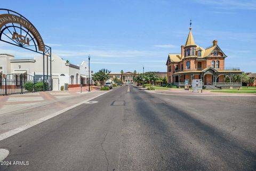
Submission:
{"label": "orange brick Victorian house with pointed turret and porch", "polygon": [[193,79],[202,79],[205,87],[242,86],[242,81],[233,82],[234,75],[242,76],[242,71],[239,68],[225,69],[226,57],[217,40],[213,40],[212,45],[206,49],[195,44],[190,25],[186,44],[181,45],[181,53],[168,55],[168,82],[182,87],[185,79],[189,80],[190,86]]}

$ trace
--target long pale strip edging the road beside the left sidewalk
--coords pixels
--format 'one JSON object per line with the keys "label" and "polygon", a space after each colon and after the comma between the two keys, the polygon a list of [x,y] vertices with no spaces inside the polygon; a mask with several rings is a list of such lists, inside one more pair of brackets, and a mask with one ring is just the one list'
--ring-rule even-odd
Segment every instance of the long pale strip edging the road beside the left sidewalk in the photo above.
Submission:
{"label": "long pale strip edging the road beside the left sidewalk", "polygon": [[92,98],[90,98],[90,99],[81,101],[81,102],[79,102],[78,104],[75,104],[75,105],[73,105],[73,106],[69,106],[69,107],[67,107],[67,108],[65,108],[65,109],[62,109],[62,110],[59,110],[58,112],[55,112],[55,113],[53,113],[53,114],[51,114],[51,115],[48,115],[48,116],[39,118],[39,119],[37,119],[36,121],[32,121],[32,122],[30,122],[30,123],[28,123],[28,124],[26,124],[26,125],[17,127],[17,129],[13,129],[13,130],[11,130],[11,131],[4,132],[4,133],[0,134],[0,141],[1,141],[1,140],[4,140],[4,139],[6,139],[6,138],[9,138],[9,137],[12,136],[12,135],[18,134],[18,133],[20,133],[20,132],[22,132],[22,131],[24,131],[24,130],[27,130],[27,129],[29,129],[30,127],[35,126],[35,125],[37,125],[37,124],[39,124],[39,123],[42,123],[42,122],[44,122],[44,121],[46,121],[46,120],[48,120],[48,119],[50,119],[50,118],[52,118],[52,117],[55,117],[55,116],[57,116],[57,115],[60,115],[60,114],[66,112],[66,111],[68,111],[68,110],[70,110],[70,109],[72,109],[72,108],[75,108],[75,107],[77,107],[77,106],[79,106],[79,105],[82,105],[82,104],[84,104],[84,103],[87,102],[87,101],[90,101],[90,100],[95,99],[95,98],[97,98],[97,97],[99,97],[99,96],[102,96],[102,95],[106,94],[107,92],[110,92],[110,91],[106,91],[106,92],[104,92],[104,93],[102,93],[102,94],[100,94],[100,95],[98,95],[98,96],[95,96],[95,97],[92,97]]}

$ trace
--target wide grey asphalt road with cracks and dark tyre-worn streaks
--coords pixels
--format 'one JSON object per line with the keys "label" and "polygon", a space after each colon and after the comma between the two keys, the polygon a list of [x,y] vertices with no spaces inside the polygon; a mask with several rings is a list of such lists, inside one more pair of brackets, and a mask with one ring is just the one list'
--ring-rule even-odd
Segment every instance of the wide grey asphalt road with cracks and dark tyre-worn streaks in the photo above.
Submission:
{"label": "wide grey asphalt road with cracks and dark tyre-worn streaks", "polygon": [[0,170],[256,170],[256,97],[127,88],[0,141],[29,162]]}

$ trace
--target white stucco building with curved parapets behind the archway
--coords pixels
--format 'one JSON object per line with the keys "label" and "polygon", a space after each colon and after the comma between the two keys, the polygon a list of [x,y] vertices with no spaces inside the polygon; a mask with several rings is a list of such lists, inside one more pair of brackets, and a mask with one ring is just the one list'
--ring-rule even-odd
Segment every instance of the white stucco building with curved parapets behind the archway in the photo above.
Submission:
{"label": "white stucco building with curved parapets behind the archway", "polygon": [[[60,56],[52,54],[52,88],[60,90],[61,86],[68,84],[68,87],[79,87],[86,85],[88,81],[89,69],[86,62],[81,65],[66,63]],[[45,56],[45,80],[48,75],[50,80],[50,57]],[[48,62],[47,62],[48,60]],[[34,57],[34,59],[14,59],[13,55],[0,54],[0,75],[6,74],[29,74],[37,80],[43,80],[43,55]],[[91,72],[92,73],[92,72]]]}

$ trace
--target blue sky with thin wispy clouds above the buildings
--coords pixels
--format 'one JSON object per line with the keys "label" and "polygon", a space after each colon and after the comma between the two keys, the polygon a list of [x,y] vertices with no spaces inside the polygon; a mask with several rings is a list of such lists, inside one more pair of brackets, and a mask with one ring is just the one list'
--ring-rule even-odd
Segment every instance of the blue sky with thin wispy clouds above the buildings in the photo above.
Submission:
{"label": "blue sky with thin wispy clouds above the buildings", "polygon": [[[166,71],[168,53],[180,53],[192,19],[197,45],[214,39],[228,56],[226,67],[256,72],[256,1],[102,0],[4,1],[32,22],[52,53],[79,64],[91,55],[92,70]],[[37,55],[0,43],[0,53]]]}

